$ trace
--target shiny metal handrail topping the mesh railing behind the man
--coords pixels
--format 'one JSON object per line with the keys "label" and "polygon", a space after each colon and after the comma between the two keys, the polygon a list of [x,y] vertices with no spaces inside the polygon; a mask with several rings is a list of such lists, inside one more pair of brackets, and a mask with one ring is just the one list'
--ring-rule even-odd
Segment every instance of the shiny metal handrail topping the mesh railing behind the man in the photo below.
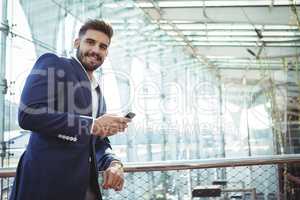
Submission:
{"label": "shiny metal handrail topping the mesh railing behind the man", "polygon": [[[170,171],[300,163],[300,154],[124,163],[125,172]],[[14,177],[15,168],[0,168],[0,178]]]}

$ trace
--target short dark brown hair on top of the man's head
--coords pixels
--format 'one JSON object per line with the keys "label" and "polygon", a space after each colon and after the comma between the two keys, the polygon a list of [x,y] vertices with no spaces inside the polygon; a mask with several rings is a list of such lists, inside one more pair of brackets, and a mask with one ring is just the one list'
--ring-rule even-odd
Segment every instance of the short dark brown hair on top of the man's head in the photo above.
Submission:
{"label": "short dark brown hair on top of the man's head", "polygon": [[114,31],[113,31],[111,25],[109,25],[105,21],[98,20],[98,19],[89,19],[81,26],[78,36],[82,37],[86,33],[86,31],[90,30],[90,29],[104,33],[105,35],[107,35],[109,37],[109,41],[111,40],[111,38],[114,34]]}

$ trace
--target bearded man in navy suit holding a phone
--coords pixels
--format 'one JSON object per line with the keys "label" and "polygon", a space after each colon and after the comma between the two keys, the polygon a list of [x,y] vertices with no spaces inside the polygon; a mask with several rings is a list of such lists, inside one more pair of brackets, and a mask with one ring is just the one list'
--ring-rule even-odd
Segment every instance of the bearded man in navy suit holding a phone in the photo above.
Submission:
{"label": "bearded man in navy suit holding a phone", "polygon": [[99,200],[98,171],[104,189],[120,191],[122,163],[111,153],[108,136],[127,128],[129,119],[105,114],[93,72],[108,53],[113,30],[100,20],[80,29],[71,59],[44,54],[28,76],[19,124],[30,130],[10,200]]}

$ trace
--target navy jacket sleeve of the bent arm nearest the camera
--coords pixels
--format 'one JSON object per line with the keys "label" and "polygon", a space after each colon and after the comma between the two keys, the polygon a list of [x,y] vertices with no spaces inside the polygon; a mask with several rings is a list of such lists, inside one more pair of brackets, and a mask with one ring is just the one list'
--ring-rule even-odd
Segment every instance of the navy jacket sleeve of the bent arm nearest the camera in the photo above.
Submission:
{"label": "navy jacket sleeve of the bent arm nearest the camera", "polygon": [[19,106],[21,128],[41,134],[89,134],[92,118],[55,110],[57,83],[66,83],[66,71],[54,54],[44,54],[35,63],[28,76]]}

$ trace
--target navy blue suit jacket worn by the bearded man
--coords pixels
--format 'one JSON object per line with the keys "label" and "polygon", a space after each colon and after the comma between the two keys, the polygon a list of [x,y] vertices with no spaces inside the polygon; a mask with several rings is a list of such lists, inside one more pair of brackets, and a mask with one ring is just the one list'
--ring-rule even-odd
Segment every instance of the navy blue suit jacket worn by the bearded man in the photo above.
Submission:
{"label": "navy blue suit jacket worn by the bearded man", "polygon": [[[106,111],[99,89],[98,116]],[[101,199],[98,170],[112,160],[107,138],[91,136],[91,86],[75,59],[44,54],[28,76],[19,124],[30,130],[10,200],[83,200],[88,185]]]}

